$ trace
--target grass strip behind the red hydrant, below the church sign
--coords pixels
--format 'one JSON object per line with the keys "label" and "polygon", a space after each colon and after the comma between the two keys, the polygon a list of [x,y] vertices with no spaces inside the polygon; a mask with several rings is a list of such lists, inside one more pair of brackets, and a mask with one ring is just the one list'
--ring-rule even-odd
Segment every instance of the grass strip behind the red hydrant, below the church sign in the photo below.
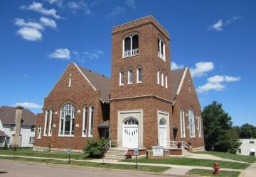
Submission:
{"label": "grass strip behind the red hydrant, below the church sign", "polygon": [[[134,159],[122,160],[127,162],[134,162]],[[192,159],[184,157],[171,157],[169,159],[138,159],[139,163],[148,164],[171,164],[171,165],[182,165],[182,166],[207,166],[212,167],[214,160],[208,159]],[[250,164],[237,163],[232,161],[218,161],[221,168],[227,169],[245,169]]]}

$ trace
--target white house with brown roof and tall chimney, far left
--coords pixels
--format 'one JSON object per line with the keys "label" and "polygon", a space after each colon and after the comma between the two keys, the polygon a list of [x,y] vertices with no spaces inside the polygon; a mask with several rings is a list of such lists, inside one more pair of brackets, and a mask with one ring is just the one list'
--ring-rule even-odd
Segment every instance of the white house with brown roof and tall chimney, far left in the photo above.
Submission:
{"label": "white house with brown roof and tall chimney, far left", "polygon": [[17,144],[18,147],[33,147],[36,115],[21,106],[0,107],[0,147]]}

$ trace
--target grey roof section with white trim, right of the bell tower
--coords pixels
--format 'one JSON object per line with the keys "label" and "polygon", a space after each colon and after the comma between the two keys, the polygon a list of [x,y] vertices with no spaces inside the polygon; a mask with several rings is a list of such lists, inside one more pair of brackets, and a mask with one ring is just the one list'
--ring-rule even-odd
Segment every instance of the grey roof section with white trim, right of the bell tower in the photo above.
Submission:
{"label": "grey roof section with white trim, right of the bell tower", "polygon": [[171,101],[178,95],[186,75],[187,68],[171,71]]}

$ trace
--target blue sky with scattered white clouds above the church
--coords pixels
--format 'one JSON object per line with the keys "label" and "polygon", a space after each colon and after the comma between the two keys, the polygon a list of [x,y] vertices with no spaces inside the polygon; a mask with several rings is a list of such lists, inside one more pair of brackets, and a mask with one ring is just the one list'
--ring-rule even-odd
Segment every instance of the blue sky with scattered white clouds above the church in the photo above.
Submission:
{"label": "blue sky with scattered white clouds above the church", "polygon": [[256,1],[0,1],[0,105],[41,113],[70,62],[110,76],[111,30],[152,15],[171,36],[171,69],[191,69],[201,107],[256,125]]}

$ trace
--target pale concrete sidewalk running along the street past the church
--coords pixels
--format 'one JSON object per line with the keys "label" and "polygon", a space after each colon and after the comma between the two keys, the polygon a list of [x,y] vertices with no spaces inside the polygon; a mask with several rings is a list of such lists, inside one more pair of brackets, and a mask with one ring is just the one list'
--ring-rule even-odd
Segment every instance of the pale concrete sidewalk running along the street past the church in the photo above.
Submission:
{"label": "pale concrete sidewalk running along the street past the church", "polygon": [[[50,160],[58,160],[58,161],[68,161],[68,159],[58,159],[58,158],[47,158],[47,157],[37,157],[37,156],[14,156],[14,155],[1,155],[0,156],[9,156],[9,157],[23,157],[23,158],[30,158],[30,159],[50,159]],[[92,160],[75,160],[71,159],[72,161],[87,161],[87,162],[94,162],[94,163],[102,163],[102,159],[92,159]],[[128,164],[131,165],[133,163],[124,162],[124,161],[118,161],[114,159],[104,159],[104,162],[107,164]],[[207,169],[207,170],[213,170],[212,167],[205,167],[205,166],[181,166],[181,165],[170,165],[170,164],[146,164],[146,163],[138,163],[138,165],[144,165],[144,166],[165,166],[165,167],[171,167],[171,169],[164,171],[164,174],[167,175],[178,175],[183,176],[186,175],[188,171],[191,169]],[[248,167],[250,168],[250,167]],[[247,169],[248,169],[247,168]],[[240,169],[225,169],[222,168],[223,171],[239,171],[250,174],[250,171],[253,171],[252,173],[255,173],[255,166],[252,166],[252,169],[246,170],[240,170]]]}

